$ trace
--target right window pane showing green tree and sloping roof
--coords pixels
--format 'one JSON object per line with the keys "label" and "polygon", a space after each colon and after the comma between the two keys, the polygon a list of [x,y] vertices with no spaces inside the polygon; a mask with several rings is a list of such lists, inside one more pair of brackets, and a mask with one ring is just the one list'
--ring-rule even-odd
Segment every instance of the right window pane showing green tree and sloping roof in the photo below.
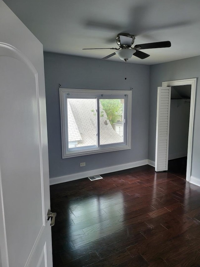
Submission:
{"label": "right window pane showing green tree and sloping roof", "polygon": [[100,145],[124,141],[124,99],[99,100]]}

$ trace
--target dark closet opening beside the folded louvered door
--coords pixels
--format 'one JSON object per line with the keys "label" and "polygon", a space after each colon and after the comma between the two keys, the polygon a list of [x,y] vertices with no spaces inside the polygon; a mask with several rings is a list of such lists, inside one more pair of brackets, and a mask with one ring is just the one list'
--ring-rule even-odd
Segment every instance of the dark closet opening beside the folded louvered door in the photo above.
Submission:
{"label": "dark closet opening beside the folded louvered door", "polygon": [[186,179],[191,85],[171,87],[168,172]]}

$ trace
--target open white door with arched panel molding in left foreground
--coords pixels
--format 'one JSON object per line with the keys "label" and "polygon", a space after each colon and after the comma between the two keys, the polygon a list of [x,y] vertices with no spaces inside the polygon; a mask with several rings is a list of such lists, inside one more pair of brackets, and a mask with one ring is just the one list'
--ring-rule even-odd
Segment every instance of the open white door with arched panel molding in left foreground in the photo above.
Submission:
{"label": "open white door with arched panel molding in left foreground", "polygon": [[0,266],[51,267],[42,44],[0,0]]}

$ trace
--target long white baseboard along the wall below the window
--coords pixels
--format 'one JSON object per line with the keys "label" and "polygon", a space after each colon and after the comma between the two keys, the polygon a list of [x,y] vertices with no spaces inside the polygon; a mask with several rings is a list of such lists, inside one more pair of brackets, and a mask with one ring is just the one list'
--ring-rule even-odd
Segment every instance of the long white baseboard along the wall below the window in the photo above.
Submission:
{"label": "long white baseboard along the wall below the window", "polygon": [[53,177],[53,178],[50,178],[50,185],[62,183],[62,182],[74,181],[74,180],[78,180],[81,178],[86,178],[86,177],[94,176],[94,175],[101,175],[103,173],[122,171],[122,170],[135,168],[135,167],[139,167],[139,166],[143,166],[147,164],[148,164],[148,160],[144,159],[141,161],[130,162],[130,163],[110,166],[110,167],[101,168],[101,169],[95,169],[95,170],[86,171],[86,172],[78,172],[78,173],[68,174],[68,175],[64,175],[60,177]]}

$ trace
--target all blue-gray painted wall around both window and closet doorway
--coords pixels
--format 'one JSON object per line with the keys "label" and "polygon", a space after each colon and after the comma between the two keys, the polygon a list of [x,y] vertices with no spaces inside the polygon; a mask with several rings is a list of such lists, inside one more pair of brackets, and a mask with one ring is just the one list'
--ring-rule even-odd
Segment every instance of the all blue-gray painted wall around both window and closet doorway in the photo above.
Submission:
{"label": "all blue-gray painted wall around both window and closet doorway", "polygon": [[[163,81],[199,78],[200,56],[152,66],[103,61],[44,53],[50,177],[92,169],[155,160],[157,87]],[[130,90],[132,101],[132,148],[62,159],[58,83],[63,88]],[[197,93],[192,152],[192,176],[200,178],[200,85]],[[86,162],[80,167],[80,162]]]}

